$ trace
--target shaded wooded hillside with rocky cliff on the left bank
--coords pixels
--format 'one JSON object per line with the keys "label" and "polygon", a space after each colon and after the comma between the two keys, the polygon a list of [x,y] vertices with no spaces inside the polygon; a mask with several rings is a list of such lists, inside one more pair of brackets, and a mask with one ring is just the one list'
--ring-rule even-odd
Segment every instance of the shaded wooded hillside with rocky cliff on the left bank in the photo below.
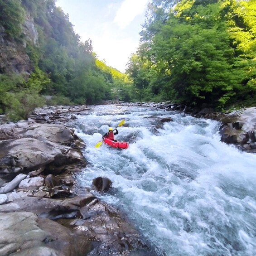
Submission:
{"label": "shaded wooded hillside with rocky cliff on the left bank", "polygon": [[127,75],[97,60],[55,0],[0,0],[0,114],[49,104],[130,100]]}

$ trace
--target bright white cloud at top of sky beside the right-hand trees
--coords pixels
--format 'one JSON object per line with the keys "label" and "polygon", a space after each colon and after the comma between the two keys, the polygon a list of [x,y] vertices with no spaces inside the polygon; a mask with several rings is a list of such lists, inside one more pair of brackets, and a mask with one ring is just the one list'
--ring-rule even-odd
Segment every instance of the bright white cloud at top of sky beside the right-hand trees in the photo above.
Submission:
{"label": "bright white cloud at top of sky beside the right-hand trees", "polygon": [[121,29],[128,26],[137,15],[145,12],[149,0],[124,0],[119,10],[116,12],[114,22]]}

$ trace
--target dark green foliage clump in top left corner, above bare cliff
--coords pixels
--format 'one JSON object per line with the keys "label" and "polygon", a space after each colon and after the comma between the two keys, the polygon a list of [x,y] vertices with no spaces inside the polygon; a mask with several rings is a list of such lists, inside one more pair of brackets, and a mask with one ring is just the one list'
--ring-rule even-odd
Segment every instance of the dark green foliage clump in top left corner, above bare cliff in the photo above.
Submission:
{"label": "dark green foliage clump in top left corner, above bare cliff", "polygon": [[18,37],[22,32],[24,8],[17,0],[0,0],[0,25],[11,37]]}

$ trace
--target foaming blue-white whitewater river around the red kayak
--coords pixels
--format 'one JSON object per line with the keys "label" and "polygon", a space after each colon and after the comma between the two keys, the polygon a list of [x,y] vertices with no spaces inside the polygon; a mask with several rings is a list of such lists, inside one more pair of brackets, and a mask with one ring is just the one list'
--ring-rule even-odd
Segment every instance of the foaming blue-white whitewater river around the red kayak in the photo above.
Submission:
{"label": "foaming blue-white whitewater river around the red kayak", "polygon": [[[156,255],[256,256],[256,155],[222,143],[220,123],[139,106],[92,106],[77,117],[89,162],[79,184],[111,179],[97,196],[125,212]],[[115,138],[129,148],[95,148],[122,119]]]}

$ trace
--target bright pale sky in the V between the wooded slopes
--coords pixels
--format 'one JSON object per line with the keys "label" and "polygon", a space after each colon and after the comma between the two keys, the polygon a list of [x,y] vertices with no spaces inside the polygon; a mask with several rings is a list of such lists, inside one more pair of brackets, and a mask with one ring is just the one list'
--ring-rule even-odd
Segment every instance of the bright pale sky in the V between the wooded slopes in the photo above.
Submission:
{"label": "bright pale sky in the V between the wooded slopes", "polygon": [[139,46],[141,24],[150,0],[57,0],[76,34],[92,40],[93,51],[106,65],[125,72]]}

